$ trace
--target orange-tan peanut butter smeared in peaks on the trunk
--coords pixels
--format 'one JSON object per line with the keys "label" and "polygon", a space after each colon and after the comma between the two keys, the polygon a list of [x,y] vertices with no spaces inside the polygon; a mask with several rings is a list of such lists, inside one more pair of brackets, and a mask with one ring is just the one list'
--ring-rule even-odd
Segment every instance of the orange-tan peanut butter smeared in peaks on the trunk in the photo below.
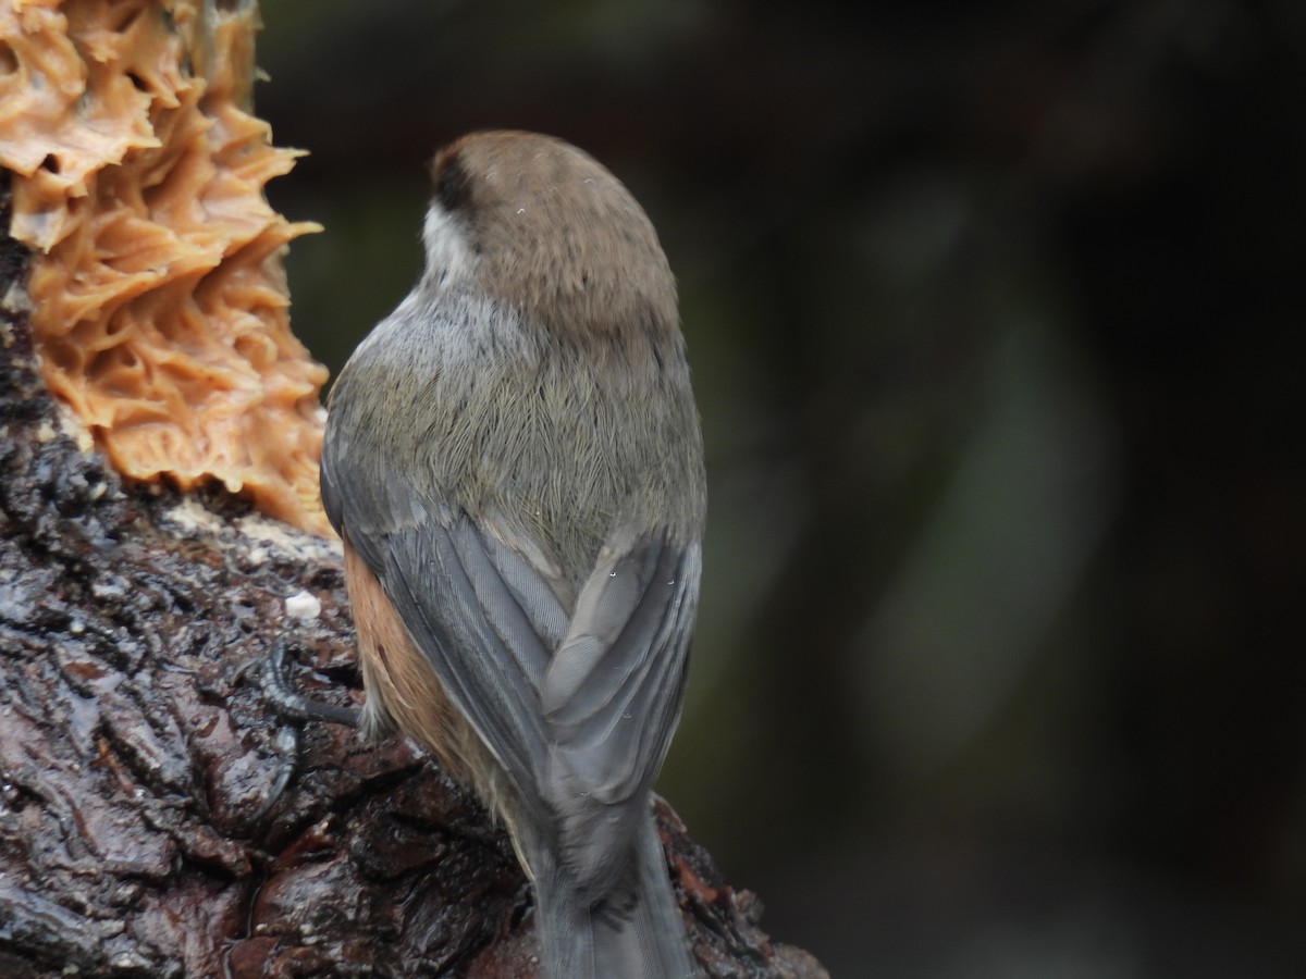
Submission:
{"label": "orange-tan peanut butter smeared in peaks on the trunk", "polygon": [[249,112],[255,4],[0,0],[0,166],[46,382],[124,475],[330,534],[326,369],[290,333],[298,153]]}

